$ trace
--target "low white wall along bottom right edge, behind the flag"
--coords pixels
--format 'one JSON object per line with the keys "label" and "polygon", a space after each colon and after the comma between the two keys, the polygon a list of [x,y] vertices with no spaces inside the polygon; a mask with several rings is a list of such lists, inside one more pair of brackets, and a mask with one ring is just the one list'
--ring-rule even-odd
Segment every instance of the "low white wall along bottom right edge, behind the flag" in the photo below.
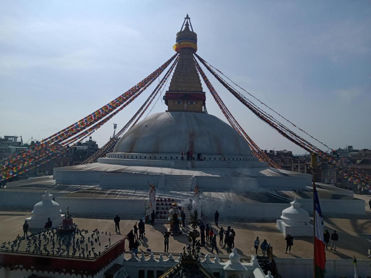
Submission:
{"label": "low white wall along bottom right edge, behind the flag", "polygon": [[[313,277],[312,258],[275,258],[278,272],[282,277]],[[326,259],[325,277],[354,277],[354,265],[351,259]],[[358,277],[371,275],[370,260],[357,259]]]}

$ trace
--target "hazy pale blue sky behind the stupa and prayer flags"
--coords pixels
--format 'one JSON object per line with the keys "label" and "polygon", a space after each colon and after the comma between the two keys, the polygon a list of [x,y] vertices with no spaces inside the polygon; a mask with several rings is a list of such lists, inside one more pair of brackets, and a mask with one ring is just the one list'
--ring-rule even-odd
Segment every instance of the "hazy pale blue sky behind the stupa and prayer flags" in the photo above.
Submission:
{"label": "hazy pale blue sky behind the stupa and prayer flags", "polygon": [[[46,138],[121,95],[174,54],[188,13],[197,53],[234,82],[332,148],[371,148],[370,1],[183,3],[2,1],[0,135]],[[304,152],[206,75],[261,149]],[[154,86],[93,133],[99,146]]]}

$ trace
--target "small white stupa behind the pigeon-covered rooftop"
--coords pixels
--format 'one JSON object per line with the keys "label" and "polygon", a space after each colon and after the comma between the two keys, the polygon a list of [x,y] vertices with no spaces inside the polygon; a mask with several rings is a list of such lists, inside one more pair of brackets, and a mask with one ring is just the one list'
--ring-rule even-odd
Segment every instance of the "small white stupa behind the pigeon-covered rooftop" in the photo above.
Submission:
{"label": "small white stupa behind the pigeon-covered rooftop", "polygon": [[62,224],[64,214],[60,210],[59,203],[53,201],[53,195],[48,191],[42,196],[42,201],[33,206],[32,216],[26,218],[30,229],[43,229],[47,219],[53,222],[53,227]]}

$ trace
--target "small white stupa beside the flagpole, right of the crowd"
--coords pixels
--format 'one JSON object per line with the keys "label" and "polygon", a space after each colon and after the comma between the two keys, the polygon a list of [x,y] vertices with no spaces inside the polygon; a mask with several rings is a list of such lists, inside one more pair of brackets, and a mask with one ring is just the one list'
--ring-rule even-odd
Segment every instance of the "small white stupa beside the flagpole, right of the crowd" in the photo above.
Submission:
{"label": "small white stupa beside the flagpole, right of the crowd", "polygon": [[290,202],[291,206],[282,211],[281,219],[277,220],[277,228],[284,234],[292,236],[312,236],[313,226],[309,224],[309,214],[300,207],[301,203]]}

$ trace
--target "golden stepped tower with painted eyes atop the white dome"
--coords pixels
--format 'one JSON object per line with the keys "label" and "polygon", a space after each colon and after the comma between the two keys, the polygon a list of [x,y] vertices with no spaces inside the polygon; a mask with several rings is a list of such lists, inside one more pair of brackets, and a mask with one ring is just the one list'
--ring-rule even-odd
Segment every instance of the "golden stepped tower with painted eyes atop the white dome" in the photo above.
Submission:
{"label": "golden stepped tower with painted eyes atop the white dome", "polygon": [[180,56],[169,90],[164,96],[167,111],[203,112],[206,97],[193,60],[193,53],[197,51],[197,34],[193,32],[188,14],[180,32],[177,33],[173,49],[179,52]]}

